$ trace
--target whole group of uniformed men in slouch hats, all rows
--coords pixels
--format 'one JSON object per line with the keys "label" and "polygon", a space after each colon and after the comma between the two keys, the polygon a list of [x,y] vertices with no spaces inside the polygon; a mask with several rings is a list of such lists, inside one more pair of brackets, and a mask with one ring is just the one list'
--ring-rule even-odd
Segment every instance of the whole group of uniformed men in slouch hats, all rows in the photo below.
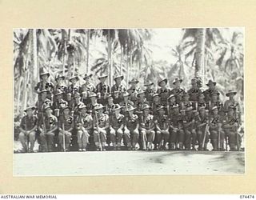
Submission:
{"label": "whole group of uniformed men in slouch hats, all rows", "polygon": [[202,91],[194,78],[190,90],[185,91],[179,78],[172,82],[172,90],[167,87],[167,78],[158,81],[157,90],[149,81],[142,90],[135,78],[126,89],[123,75],[114,78],[112,87],[106,85],[106,74],[98,77],[97,86],[91,82],[92,74],[84,75],[82,86],[78,76],[69,79],[69,86],[60,74],[55,84],[49,77],[42,71],[41,81],[34,87],[38,102],[28,106],[22,118],[19,139],[25,152],[33,152],[36,132],[42,151],[53,150],[54,137],[61,150],[70,150],[72,136],[77,138],[80,151],[88,144],[106,150],[106,143],[120,150],[122,142],[128,150],[138,146],[141,150],[207,150],[209,139],[214,150],[225,150],[224,141],[230,150],[240,148],[241,114],[234,100],[236,91],[226,93],[229,99],[222,103],[216,82],[211,80],[206,84],[209,88]]}

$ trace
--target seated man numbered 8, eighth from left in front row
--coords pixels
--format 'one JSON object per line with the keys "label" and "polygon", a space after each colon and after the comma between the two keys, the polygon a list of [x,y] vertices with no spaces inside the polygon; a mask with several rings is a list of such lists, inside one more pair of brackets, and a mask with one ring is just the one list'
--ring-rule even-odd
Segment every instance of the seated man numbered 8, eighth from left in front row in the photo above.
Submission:
{"label": "seated man numbered 8, eighth from left in front row", "polygon": [[[153,142],[154,142],[154,116],[150,114],[150,106],[145,105],[142,108],[142,120],[140,124],[141,130],[141,139],[142,139],[142,150],[153,150]],[[147,142],[147,148],[146,148]]]}

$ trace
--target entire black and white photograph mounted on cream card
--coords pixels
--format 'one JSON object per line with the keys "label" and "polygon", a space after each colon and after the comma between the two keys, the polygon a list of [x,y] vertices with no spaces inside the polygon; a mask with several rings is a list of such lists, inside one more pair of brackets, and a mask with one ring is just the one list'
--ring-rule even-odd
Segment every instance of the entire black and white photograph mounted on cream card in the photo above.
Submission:
{"label": "entire black and white photograph mounted on cream card", "polygon": [[244,27],[15,28],[14,177],[245,174],[244,41]]}

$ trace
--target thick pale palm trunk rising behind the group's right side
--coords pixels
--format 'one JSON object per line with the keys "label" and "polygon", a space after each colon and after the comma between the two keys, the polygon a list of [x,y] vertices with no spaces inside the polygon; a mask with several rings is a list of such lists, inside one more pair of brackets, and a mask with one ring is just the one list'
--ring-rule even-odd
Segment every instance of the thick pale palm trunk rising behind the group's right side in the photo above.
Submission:
{"label": "thick pale palm trunk rising behind the group's right side", "polygon": [[[198,29],[197,32],[197,47],[196,47],[196,54],[195,54],[195,70],[194,76],[195,77],[202,77],[203,70],[204,70],[204,56],[205,56],[205,42],[206,42],[206,29]],[[205,78],[202,77],[202,82],[204,84]]]}

